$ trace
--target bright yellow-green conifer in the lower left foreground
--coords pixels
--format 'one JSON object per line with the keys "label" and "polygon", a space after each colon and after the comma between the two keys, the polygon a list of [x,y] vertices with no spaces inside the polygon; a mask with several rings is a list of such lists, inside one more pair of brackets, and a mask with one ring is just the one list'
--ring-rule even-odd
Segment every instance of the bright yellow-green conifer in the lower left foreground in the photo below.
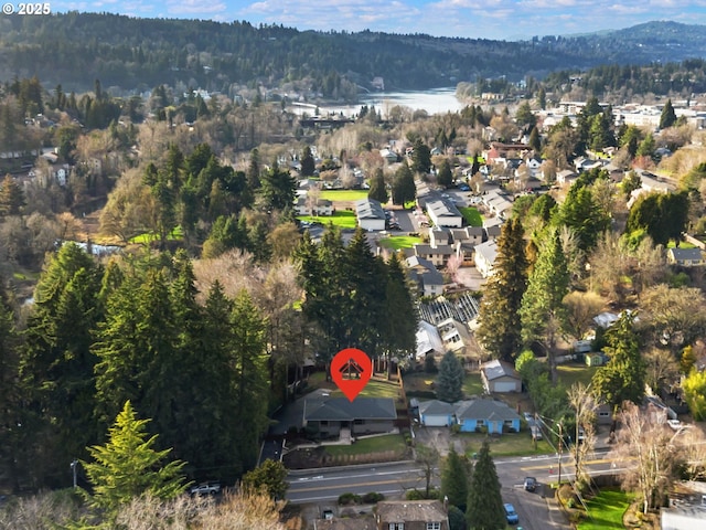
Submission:
{"label": "bright yellow-green conifer in the lower left foreground", "polygon": [[129,401],[108,431],[108,442],[88,448],[94,462],[83,462],[93,495],[90,504],[114,515],[141,495],[171,499],[184,491],[184,463],[163,464],[171,449],[156,451],[158,435],[149,436],[149,420],[138,420]]}

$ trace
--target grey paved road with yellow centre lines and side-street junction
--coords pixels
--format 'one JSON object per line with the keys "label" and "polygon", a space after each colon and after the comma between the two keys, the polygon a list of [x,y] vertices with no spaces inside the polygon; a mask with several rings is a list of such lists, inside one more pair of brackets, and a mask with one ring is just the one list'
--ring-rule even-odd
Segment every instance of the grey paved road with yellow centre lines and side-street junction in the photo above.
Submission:
{"label": "grey paved road with yellow centre lines and side-street junction", "polygon": [[[568,528],[550,499],[552,490],[548,486],[557,480],[557,455],[498,458],[494,462],[503,500],[513,504],[523,529]],[[605,458],[605,453],[592,455],[589,468],[592,474],[620,471]],[[573,478],[573,474],[570,456],[565,454],[561,459],[561,478]],[[535,492],[524,490],[523,481],[526,476],[537,478],[539,486]],[[407,489],[425,487],[424,474],[414,462],[297,470],[290,471],[288,481],[287,498],[296,504],[331,504],[347,491],[357,495],[377,491],[394,498],[402,497]],[[432,484],[439,485],[438,471],[435,473]]]}

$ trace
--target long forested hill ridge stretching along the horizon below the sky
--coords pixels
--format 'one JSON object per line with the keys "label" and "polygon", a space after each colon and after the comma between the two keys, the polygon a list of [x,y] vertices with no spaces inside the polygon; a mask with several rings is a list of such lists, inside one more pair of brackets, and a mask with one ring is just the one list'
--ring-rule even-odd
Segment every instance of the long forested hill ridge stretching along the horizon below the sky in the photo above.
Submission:
{"label": "long forested hill ridge stretching along the horizon below the sky", "polygon": [[560,70],[706,57],[706,26],[651,22],[585,36],[506,42],[377,32],[298,31],[247,22],[64,13],[0,19],[0,77],[36,75],[65,92],[149,91],[158,84],[232,91],[307,80],[341,96],[341,80],[370,88],[424,89]]}

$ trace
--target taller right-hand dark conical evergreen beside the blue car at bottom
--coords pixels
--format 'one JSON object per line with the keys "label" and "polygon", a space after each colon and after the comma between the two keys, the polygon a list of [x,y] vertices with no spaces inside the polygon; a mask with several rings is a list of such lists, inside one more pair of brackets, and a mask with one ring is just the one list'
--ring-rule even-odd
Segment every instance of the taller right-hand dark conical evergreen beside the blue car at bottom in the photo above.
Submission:
{"label": "taller right-hand dark conical evergreen beside the blue car at bottom", "polygon": [[506,527],[500,480],[488,442],[481,446],[471,476],[466,520],[471,530],[502,530]]}

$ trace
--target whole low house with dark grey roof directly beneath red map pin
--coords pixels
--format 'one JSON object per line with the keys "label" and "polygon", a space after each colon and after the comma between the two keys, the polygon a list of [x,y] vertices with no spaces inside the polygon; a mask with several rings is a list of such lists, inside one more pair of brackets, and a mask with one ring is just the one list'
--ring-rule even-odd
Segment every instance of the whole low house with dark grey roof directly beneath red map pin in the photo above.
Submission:
{"label": "whole low house with dark grey roof directly beneath red map pin", "polygon": [[352,435],[389,433],[397,411],[392,398],[310,398],[304,400],[303,426],[323,437],[339,436],[342,428]]}

